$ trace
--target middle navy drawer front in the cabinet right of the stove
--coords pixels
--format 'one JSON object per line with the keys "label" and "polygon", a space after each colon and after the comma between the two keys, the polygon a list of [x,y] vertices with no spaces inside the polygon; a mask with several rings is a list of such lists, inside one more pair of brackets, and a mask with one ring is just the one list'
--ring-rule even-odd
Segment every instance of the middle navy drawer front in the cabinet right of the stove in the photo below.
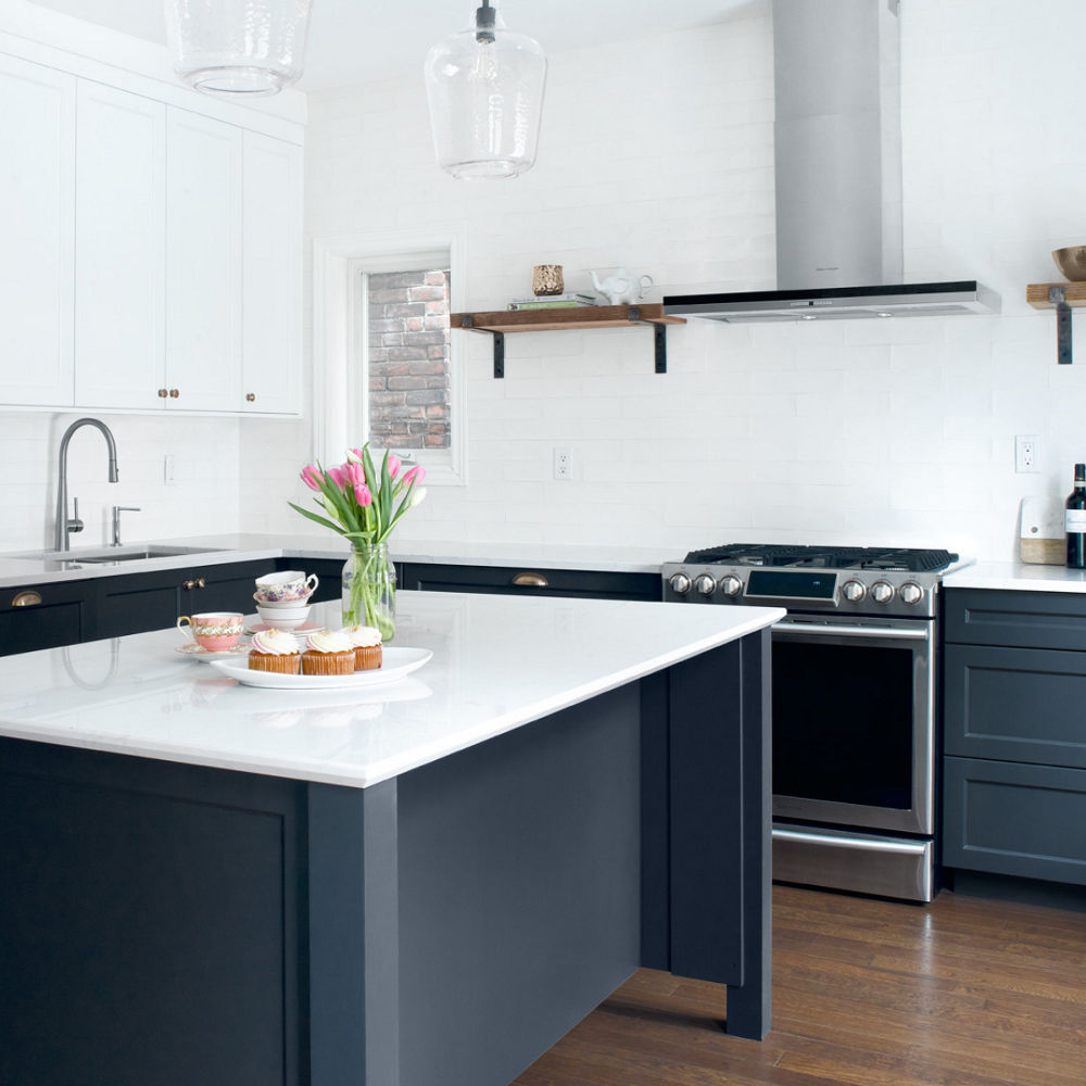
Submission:
{"label": "middle navy drawer front in the cabinet right of the stove", "polygon": [[1086,654],[947,645],[949,755],[1086,769]]}

